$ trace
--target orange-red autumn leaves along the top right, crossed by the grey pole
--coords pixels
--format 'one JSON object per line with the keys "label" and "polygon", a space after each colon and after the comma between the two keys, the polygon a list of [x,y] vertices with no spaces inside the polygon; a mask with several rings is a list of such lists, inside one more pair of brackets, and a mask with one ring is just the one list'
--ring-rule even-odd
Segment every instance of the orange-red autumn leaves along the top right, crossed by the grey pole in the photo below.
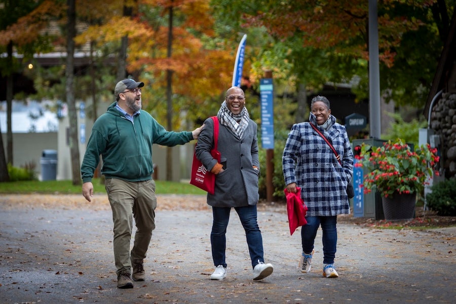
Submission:
{"label": "orange-red autumn leaves along the top right, crossed by the grey pole", "polygon": [[[379,1],[379,59],[392,66],[395,48],[407,31],[423,21],[413,18],[407,6],[429,8],[435,1]],[[410,7],[408,7],[410,9]],[[368,1],[297,0],[273,5],[267,11],[246,16],[245,26],[264,26],[279,39],[300,36],[302,47],[332,50],[334,53],[368,59]]]}

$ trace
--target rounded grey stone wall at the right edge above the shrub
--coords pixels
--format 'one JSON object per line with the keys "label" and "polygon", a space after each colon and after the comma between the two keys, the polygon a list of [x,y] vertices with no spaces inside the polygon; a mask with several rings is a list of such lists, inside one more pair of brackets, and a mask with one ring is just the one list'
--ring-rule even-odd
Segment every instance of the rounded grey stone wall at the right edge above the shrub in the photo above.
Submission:
{"label": "rounded grey stone wall at the right edge above the shrub", "polygon": [[445,177],[456,176],[456,94],[443,93],[431,109],[431,129],[440,135]]}

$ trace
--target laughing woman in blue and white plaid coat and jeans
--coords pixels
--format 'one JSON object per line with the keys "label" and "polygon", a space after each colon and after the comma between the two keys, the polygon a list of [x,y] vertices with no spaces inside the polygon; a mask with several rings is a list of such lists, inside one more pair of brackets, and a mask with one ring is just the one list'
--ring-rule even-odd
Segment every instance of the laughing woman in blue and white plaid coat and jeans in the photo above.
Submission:
{"label": "laughing woman in blue and white plaid coat and jeans", "polygon": [[[312,128],[316,126],[339,155],[336,158],[326,141]],[[307,224],[301,228],[302,254],[299,269],[311,270],[318,227],[323,231],[323,276],[336,278],[334,257],[337,243],[337,214],[349,214],[347,185],[353,174],[353,151],[344,126],[331,115],[329,100],[316,96],[311,102],[309,122],[294,124],[282,156],[283,175],[289,192],[301,188],[309,208]]]}

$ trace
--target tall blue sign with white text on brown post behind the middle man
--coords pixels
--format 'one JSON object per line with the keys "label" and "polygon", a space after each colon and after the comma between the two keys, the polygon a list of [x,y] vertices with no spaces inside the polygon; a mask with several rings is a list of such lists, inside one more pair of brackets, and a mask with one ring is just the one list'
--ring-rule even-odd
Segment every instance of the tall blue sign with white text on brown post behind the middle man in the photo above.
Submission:
{"label": "tall blue sign with white text on brown post behind the middle man", "polygon": [[272,78],[260,79],[261,143],[265,149],[274,149],[274,90]]}

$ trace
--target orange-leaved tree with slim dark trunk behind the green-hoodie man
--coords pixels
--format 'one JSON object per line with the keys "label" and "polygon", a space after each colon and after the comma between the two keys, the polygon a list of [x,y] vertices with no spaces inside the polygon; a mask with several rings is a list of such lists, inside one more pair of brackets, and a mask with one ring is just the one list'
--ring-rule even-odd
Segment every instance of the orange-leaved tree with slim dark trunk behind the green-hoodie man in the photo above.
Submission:
{"label": "orange-leaved tree with slim dark trunk behind the green-hoodie man", "polygon": [[[163,100],[166,100],[168,130],[174,129],[175,122],[186,122],[187,128],[182,125],[177,127],[188,129],[188,126],[191,126],[188,124],[188,118],[192,116],[195,118],[195,114],[200,113],[201,108],[207,108],[202,105],[207,102],[207,98],[213,96],[213,90],[220,86],[213,81],[221,81],[222,85],[224,83],[223,77],[220,80],[222,65],[212,68],[211,64],[220,62],[216,59],[223,58],[223,51],[208,49],[202,42],[213,36],[213,21],[208,15],[208,4],[207,1],[191,0],[150,3],[156,16],[159,17],[155,18],[158,22],[153,24],[155,32],[151,32],[153,36],[149,40],[154,43],[153,52],[129,53],[133,60],[137,59],[138,68],[141,68],[144,73],[154,75],[156,86],[153,87],[160,90],[166,86],[166,99],[160,98],[160,94],[151,96],[159,97],[153,100],[156,106],[151,110],[159,113],[165,108],[162,105]],[[147,18],[147,20],[154,19]],[[131,42],[131,50],[141,49],[135,48],[134,43],[135,41]],[[132,63],[131,66],[134,67],[135,64]],[[202,79],[202,82],[199,82],[199,79]],[[215,92],[217,93],[219,92]],[[195,109],[198,109],[198,112],[195,112]],[[173,159],[169,147],[166,154],[166,167],[166,179],[171,180]]]}

